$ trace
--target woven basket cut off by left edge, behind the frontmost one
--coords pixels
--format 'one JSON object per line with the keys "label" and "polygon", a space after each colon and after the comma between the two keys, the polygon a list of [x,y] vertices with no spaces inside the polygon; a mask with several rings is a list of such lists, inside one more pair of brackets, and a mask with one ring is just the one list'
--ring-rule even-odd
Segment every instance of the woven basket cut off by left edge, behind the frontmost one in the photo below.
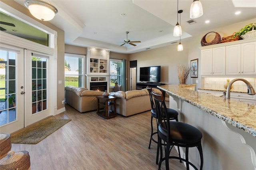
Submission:
{"label": "woven basket cut off by left edge, behind the frontmost one", "polygon": [[11,150],[12,143],[10,134],[8,133],[0,133],[0,159],[7,155],[7,153]]}

